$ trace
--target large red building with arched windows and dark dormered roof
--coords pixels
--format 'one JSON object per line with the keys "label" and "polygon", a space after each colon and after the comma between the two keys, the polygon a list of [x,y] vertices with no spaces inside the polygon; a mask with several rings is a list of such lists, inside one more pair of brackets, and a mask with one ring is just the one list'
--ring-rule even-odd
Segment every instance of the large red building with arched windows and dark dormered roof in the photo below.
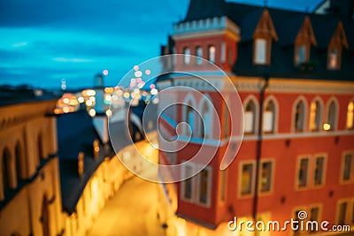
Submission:
{"label": "large red building with arched windows and dark dormered roof", "polygon": [[[229,126],[235,126],[229,124],[226,102],[218,93],[227,94],[225,76],[208,74],[208,65],[196,57],[164,61],[165,70],[173,67],[179,72],[202,72],[218,90],[208,89],[187,75],[158,79],[160,89],[183,85],[203,93],[220,118],[219,126],[209,116],[209,123],[201,126],[198,118],[191,118],[188,108],[178,106],[165,110],[159,119],[167,138],[175,137],[174,129],[182,121],[199,135],[196,138],[192,134],[181,151],[161,151],[161,162],[181,164],[201,145],[218,148],[204,171],[176,184],[181,235],[253,235],[244,229],[231,232],[227,222],[237,217],[244,221],[277,220],[282,225],[296,219],[301,210],[307,213],[304,222],[326,220],[328,229],[350,225],[353,231],[353,8],[350,0],[323,1],[313,12],[223,0],[190,1],[186,18],[175,24],[162,54],[204,57],[226,72],[242,101],[244,134],[234,162],[220,171],[226,149],[223,141],[233,141]],[[160,100],[204,106],[204,101],[189,91]],[[205,114],[212,110],[205,107]],[[214,141],[217,130],[219,144]],[[186,142],[183,133],[177,141]],[[186,165],[181,174],[196,165]],[[257,233],[309,232],[289,227],[285,232]]]}

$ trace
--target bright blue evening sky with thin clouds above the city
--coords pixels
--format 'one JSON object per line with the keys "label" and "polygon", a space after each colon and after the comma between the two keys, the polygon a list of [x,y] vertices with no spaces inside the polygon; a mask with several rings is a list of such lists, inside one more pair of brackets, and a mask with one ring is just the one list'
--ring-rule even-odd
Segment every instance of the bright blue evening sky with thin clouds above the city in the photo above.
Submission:
{"label": "bright blue evening sky with thin clouds above the city", "polygon": [[[321,0],[268,0],[304,11]],[[228,0],[262,5],[264,0]],[[92,85],[109,70],[116,85],[134,65],[159,56],[159,47],[183,19],[189,0],[0,1],[0,84],[59,88]]]}

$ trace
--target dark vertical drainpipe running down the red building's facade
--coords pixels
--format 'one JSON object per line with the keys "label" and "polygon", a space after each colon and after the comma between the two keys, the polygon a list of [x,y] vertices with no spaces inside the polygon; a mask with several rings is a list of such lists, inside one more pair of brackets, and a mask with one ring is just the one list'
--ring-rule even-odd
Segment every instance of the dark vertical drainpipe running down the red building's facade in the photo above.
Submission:
{"label": "dark vertical drainpipe running down the red building's facade", "polygon": [[260,169],[260,158],[262,156],[262,143],[263,143],[263,111],[264,111],[264,101],[266,88],[268,88],[269,75],[265,74],[263,79],[265,84],[262,86],[259,94],[259,118],[258,118],[258,140],[257,140],[257,152],[256,152],[256,179],[254,187],[254,197],[253,197],[253,207],[252,207],[252,217],[256,222],[257,209],[258,209],[258,185],[259,185],[259,169]]}

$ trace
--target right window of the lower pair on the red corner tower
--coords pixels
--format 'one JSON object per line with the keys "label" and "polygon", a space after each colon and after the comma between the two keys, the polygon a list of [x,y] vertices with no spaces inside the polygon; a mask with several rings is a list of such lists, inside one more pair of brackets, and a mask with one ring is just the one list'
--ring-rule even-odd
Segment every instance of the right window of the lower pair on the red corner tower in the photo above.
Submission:
{"label": "right window of the lower pair on the red corner tower", "polygon": [[210,204],[211,201],[211,184],[212,170],[210,167],[205,168],[198,174],[198,202],[202,204]]}

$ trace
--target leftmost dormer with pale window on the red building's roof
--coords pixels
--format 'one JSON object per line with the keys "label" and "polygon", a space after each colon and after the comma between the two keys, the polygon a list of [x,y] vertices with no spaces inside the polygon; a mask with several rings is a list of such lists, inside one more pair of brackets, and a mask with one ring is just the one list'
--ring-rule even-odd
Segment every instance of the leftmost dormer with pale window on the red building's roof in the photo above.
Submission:
{"label": "leftmost dormer with pale window on the red building's roof", "polygon": [[255,65],[271,64],[272,41],[278,41],[273,21],[268,10],[263,11],[253,34],[253,63]]}

